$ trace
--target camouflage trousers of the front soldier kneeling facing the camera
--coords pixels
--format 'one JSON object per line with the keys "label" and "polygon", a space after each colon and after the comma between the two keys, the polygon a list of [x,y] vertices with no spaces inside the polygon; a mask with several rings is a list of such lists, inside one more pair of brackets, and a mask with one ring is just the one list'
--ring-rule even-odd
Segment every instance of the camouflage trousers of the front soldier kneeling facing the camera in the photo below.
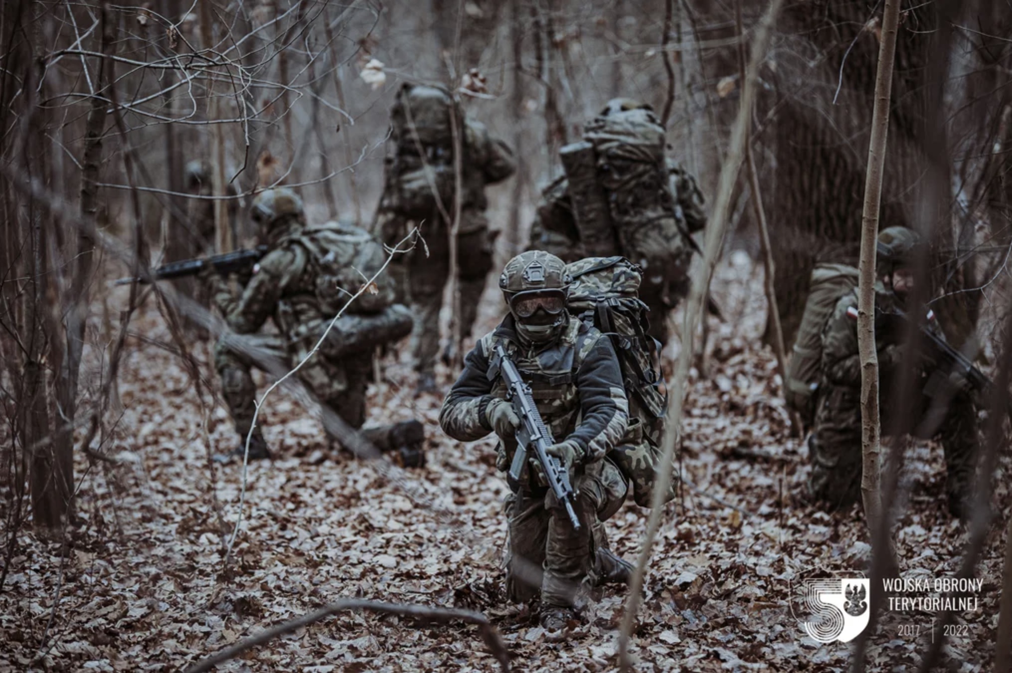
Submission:
{"label": "camouflage trousers of the front soldier kneeling facing the camera", "polygon": [[575,482],[578,495],[573,508],[579,530],[547,489],[521,488],[507,496],[510,600],[528,601],[540,590],[542,606],[579,608],[596,583],[601,571],[597,550],[608,546],[601,522],[618,511],[628,487],[607,459],[588,466]]}

